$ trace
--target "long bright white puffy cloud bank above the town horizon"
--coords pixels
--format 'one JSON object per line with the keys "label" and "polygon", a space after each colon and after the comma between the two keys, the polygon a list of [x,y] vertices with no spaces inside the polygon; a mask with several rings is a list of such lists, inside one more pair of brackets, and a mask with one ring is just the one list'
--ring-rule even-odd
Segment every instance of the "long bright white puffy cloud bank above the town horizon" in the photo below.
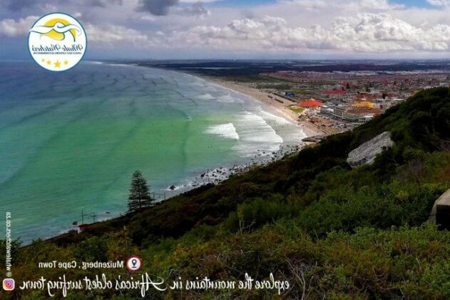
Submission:
{"label": "long bright white puffy cloud bank above the town horizon", "polygon": [[290,27],[285,19],[237,19],[227,26],[194,26],[158,37],[155,44],[197,45],[230,51],[347,52],[448,51],[450,26],[413,26],[389,14],[359,14],[319,25]]}

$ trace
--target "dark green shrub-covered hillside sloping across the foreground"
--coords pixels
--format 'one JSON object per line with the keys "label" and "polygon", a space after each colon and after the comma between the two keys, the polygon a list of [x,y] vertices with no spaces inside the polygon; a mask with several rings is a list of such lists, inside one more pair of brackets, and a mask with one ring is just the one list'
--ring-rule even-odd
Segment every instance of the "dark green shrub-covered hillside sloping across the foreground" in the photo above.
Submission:
{"label": "dark green shrub-covered hillside sloping across the foreground", "polygon": [[[347,154],[384,131],[394,146],[372,166]],[[203,186],[83,234],[35,241],[14,251],[16,281],[98,270],[38,269],[37,262],[116,261],[131,254],[166,281],[257,279],[290,290],[151,291],[150,299],[449,299],[450,233],[426,224],[450,189],[450,91],[421,91],[354,131],[329,136],[295,156]],[[125,201],[125,200],[124,200]],[[4,251],[4,246],[1,247]],[[4,268],[4,266],[2,266]],[[124,269],[108,270],[129,278]],[[14,291],[44,299],[46,291]],[[69,291],[68,299],[140,299]],[[42,297],[42,298],[39,298]]]}

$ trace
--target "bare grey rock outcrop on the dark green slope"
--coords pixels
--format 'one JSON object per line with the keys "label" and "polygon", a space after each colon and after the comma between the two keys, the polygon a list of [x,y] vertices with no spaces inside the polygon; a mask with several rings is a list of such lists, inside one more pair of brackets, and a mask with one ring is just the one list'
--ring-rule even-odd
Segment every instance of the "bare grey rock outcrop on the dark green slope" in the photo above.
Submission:
{"label": "bare grey rock outcrop on the dark green slope", "polygon": [[373,164],[375,156],[382,153],[383,149],[389,148],[394,142],[390,137],[389,131],[375,136],[370,141],[361,144],[357,149],[353,149],[347,158],[351,166],[360,166],[362,164]]}

